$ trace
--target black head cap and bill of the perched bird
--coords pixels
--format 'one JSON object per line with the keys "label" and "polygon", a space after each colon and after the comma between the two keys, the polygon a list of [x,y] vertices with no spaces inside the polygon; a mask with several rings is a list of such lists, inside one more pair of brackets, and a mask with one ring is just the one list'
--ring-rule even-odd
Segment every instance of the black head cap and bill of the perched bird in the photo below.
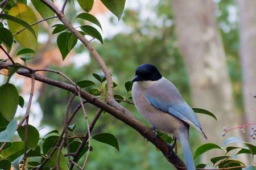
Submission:
{"label": "black head cap and bill of the perched bird", "polygon": [[158,69],[155,66],[143,63],[142,65],[138,66],[136,69],[135,77],[131,82],[138,82],[138,81],[156,81],[162,78],[162,75],[159,73]]}

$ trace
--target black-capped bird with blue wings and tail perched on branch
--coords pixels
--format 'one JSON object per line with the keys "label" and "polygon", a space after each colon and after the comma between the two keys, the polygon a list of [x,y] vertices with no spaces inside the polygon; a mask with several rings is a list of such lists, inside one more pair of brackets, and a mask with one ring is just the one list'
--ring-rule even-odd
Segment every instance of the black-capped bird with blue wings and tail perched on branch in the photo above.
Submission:
{"label": "black-capped bird with blue wings and tail perched on branch", "polygon": [[174,84],[164,78],[154,65],[143,63],[138,66],[131,83],[131,95],[139,113],[152,125],[151,129],[174,135],[180,141],[187,169],[194,170],[188,141],[189,126],[199,130],[207,139],[195,112]]}

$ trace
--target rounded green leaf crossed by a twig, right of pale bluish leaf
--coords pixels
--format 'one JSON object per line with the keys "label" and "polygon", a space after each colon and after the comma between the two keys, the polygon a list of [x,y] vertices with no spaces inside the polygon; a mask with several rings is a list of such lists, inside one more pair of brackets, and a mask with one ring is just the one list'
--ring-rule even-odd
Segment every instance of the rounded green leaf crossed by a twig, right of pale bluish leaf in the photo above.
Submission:
{"label": "rounded green leaf crossed by a twig, right of pale bluish leaf", "polygon": [[[27,146],[31,147],[33,150],[35,150],[35,148],[38,146],[39,132],[32,125],[28,125],[27,128],[28,128],[27,129],[28,130],[27,131]],[[24,126],[20,126],[17,131],[18,131],[19,137],[22,139],[22,141],[25,141],[26,128]]]}

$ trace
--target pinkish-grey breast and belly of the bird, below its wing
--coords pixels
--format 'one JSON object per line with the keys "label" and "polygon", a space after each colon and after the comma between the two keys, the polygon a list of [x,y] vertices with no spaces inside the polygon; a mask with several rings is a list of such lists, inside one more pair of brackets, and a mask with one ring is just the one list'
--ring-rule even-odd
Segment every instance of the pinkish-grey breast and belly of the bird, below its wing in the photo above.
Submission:
{"label": "pinkish-grey breast and belly of the bird, below its wing", "polygon": [[152,126],[163,133],[174,134],[177,136],[176,132],[183,126],[183,122],[171,114],[153,107],[146,100],[146,95],[143,91],[133,91],[133,100],[138,111]]}

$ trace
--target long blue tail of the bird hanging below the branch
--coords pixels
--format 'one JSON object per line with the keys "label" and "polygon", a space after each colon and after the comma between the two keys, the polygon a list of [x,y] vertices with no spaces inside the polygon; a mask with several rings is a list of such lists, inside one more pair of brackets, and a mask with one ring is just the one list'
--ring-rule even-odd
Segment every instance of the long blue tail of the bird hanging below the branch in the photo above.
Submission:
{"label": "long blue tail of the bird hanging below the branch", "polygon": [[182,129],[179,131],[179,139],[185,157],[186,165],[188,170],[195,170],[195,164],[193,162],[193,157],[191,153],[191,148],[188,142],[188,130]]}

